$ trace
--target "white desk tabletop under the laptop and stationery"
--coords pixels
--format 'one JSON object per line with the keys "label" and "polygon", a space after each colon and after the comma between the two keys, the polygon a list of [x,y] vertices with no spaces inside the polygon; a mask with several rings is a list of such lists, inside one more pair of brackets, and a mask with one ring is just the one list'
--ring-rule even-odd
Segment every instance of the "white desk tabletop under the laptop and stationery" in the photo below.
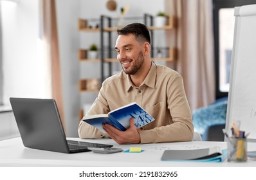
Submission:
{"label": "white desk tabletop under the laptop and stationery", "polygon": [[[80,140],[79,138],[68,138]],[[190,141],[179,143],[157,143],[144,145],[118,145],[111,139],[80,140],[106,143],[127,150],[130,147],[142,147],[143,152],[114,154],[96,154],[79,152],[64,154],[24,147],[21,138],[0,141],[0,167],[256,167],[256,161],[246,163],[201,163],[161,161],[165,149],[204,148],[219,146],[226,149],[226,142]],[[248,143],[248,150],[256,150],[256,143]]]}

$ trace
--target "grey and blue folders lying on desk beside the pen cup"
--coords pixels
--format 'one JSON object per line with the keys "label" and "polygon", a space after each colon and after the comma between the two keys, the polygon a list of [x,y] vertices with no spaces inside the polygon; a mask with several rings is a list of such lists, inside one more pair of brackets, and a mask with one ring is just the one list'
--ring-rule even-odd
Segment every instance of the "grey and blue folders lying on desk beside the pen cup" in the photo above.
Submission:
{"label": "grey and blue folders lying on desk beside the pen cup", "polygon": [[208,147],[204,149],[175,149],[165,150],[162,161],[199,161],[222,162],[227,158],[227,150],[220,147]]}

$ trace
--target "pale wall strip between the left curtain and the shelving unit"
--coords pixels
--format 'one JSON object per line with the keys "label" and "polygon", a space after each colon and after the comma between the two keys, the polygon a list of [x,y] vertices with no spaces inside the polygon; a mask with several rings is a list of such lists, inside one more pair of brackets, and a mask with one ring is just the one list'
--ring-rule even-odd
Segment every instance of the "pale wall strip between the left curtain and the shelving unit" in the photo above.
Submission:
{"label": "pale wall strip between the left curtain and the shelving unit", "polygon": [[77,24],[80,2],[78,0],[57,0],[56,5],[66,136],[77,137],[78,113],[80,109],[78,93],[79,36]]}

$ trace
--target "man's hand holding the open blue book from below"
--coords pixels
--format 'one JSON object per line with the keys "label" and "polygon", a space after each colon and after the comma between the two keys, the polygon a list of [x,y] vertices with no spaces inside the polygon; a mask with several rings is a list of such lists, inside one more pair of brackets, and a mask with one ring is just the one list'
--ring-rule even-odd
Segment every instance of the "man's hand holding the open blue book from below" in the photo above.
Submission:
{"label": "man's hand holding the open blue book from below", "polygon": [[140,130],[134,125],[134,118],[131,118],[130,127],[126,131],[120,131],[109,124],[104,124],[102,127],[109,137],[120,145],[125,143],[140,143],[140,133],[138,132]]}

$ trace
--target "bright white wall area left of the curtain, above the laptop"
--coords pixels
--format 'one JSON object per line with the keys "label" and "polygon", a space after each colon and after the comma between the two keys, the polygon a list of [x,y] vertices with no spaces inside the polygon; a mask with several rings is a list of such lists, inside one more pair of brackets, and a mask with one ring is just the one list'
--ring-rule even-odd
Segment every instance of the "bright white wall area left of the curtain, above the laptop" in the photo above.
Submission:
{"label": "bright white wall area left of the curtain, above the laptop", "polygon": [[1,1],[3,23],[4,104],[10,96],[42,97],[42,76],[37,71],[39,3]]}

